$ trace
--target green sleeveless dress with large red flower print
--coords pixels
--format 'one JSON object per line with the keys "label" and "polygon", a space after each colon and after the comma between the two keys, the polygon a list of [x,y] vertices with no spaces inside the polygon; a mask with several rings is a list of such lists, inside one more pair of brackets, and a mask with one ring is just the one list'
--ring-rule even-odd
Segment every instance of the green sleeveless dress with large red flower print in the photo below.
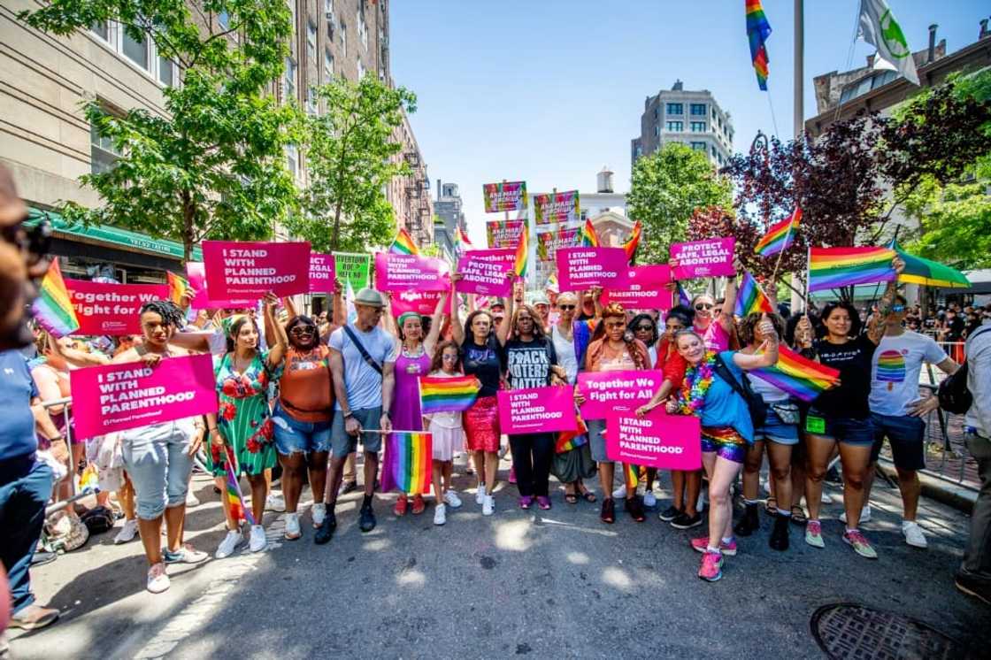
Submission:
{"label": "green sleeveless dress with large red flower print", "polygon": [[[239,470],[260,475],[275,467],[275,434],[269,407],[269,384],[281,369],[270,372],[268,352],[258,351],[243,374],[234,370],[234,354],[228,353],[214,369],[217,382],[217,428],[232,447]],[[214,477],[226,477],[224,448],[210,444],[208,467]]]}

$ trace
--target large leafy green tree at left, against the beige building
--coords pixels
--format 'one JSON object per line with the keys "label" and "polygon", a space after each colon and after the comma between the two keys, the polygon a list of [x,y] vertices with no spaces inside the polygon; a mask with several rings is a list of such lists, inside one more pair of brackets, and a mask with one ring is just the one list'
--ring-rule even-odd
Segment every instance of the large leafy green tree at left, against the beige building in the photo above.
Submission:
{"label": "large leafy green tree at left, against the beige building", "polygon": [[[54,0],[19,17],[65,36],[114,22],[151,40],[178,67],[181,83],[163,89],[165,114],[82,112],[120,155],[106,171],[84,174],[99,208],[66,203],[72,221],[105,223],[182,243],[185,260],[204,239],[264,239],[293,208],[285,166],[296,111],[266,89],[281,76],[290,12],[283,0]],[[223,21],[221,21],[223,17]]]}

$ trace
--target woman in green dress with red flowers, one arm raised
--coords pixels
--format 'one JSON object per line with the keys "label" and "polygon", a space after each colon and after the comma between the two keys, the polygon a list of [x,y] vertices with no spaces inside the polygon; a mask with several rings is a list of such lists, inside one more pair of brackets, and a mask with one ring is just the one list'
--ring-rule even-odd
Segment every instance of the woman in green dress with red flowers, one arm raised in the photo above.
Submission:
{"label": "woman in green dress with red flowers, one arm raised", "polygon": [[275,295],[265,298],[265,317],[275,328],[275,346],[269,351],[258,348],[259,328],[249,315],[233,318],[227,335],[227,353],[214,369],[217,395],[220,399],[216,415],[208,415],[210,428],[210,457],[207,466],[213,473],[227,518],[227,535],[215,554],[217,559],[231,555],[244,541],[240,515],[235,517],[227,497],[227,460],[232,456],[235,470],[248,477],[251,484],[252,512],[255,523],[251,528],[249,547],[259,552],[266,547],[262,516],[268,487],[265,471],[275,467],[275,434],[272,408],[269,405],[269,384],[279,378],[278,365],[285,352],[286,338],[282,325],[273,317]]}

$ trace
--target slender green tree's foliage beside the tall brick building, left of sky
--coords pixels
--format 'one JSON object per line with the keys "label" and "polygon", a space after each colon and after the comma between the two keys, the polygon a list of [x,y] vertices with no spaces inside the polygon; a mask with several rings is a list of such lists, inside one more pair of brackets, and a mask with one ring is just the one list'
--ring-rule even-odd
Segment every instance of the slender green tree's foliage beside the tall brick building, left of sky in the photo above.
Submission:
{"label": "slender green tree's foliage beside the tall brick building, left of sky", "polygon": [[288,227],[318,250],[365,251],[385,245],[395,233],[385,185],[410,167],[394,157],[403,112],[415,112],[416,96],[365,76],[338,79],[315,88],[327,112],[305,119],[304,152],[309,185],[302,213]]}

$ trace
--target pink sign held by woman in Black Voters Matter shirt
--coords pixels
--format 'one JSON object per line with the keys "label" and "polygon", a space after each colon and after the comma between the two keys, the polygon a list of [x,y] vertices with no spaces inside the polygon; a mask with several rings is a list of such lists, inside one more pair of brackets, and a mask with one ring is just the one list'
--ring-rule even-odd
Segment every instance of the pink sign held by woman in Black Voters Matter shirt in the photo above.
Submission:
{"label": "pink sign held by woman in Black Voters Matter shirt", "polygon": [[571,387],[548,386],[500,389],[498,423],[502,433],[574,431],[575,393]]}

